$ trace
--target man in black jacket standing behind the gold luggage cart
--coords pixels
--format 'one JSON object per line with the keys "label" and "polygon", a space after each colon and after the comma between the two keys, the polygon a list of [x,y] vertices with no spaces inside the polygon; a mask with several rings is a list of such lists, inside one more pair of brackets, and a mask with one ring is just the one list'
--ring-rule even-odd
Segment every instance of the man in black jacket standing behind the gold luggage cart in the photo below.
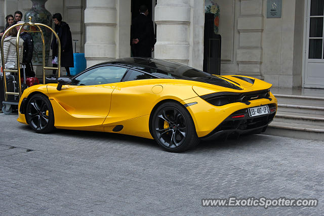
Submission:
{"label": "man in black jacket standing behind the gold luggage cart", "polygon": [[[24,23],[24,22],[19,21],[17,23]],[[21,28],[21,26],[18,26],[16,28],[17,28],[17,30],[19,30]],[[33,42],[32,36],[29,33],[25,32],[24,29],[21,29],[20,32],[21,32],[20,38],[24,40],[22,64],[26,66],[25,75],[28,77],[35,77],[35,73],[31,67],[31,59],[32,59],[32,53],[34,50],[34,42]]]}

